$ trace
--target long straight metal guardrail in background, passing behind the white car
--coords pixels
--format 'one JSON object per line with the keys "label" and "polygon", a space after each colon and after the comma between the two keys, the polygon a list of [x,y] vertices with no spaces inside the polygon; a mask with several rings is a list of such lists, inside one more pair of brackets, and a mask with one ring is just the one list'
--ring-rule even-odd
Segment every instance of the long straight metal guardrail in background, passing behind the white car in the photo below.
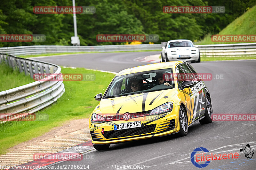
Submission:
{"label": "long straight metal guardrail in background, passing behind the white car", "polygon": [[[163,44],[104,45],[104,46],[21,46],[0,48],[0,53],[34,55],[45,53],[111,52],[162,50]],[[195,45],[206,56],[256,55],[256,43]]]}

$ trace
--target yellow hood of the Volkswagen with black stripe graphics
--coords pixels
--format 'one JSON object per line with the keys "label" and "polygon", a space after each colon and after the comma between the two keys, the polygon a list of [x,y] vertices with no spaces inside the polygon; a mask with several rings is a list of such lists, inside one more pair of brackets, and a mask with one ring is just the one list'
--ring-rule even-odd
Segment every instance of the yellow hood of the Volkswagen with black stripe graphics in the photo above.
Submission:
{"label": "yellow hood of the Volkswagen with black stripe graphics", "polygon": [[[102,116],[110,116],[122,113],[136,113],[152,110],[170,100],[176,89],[146,92],[128,96],[120,96],[109,99],[102,99],[93,113]],[[106,115],[108,114],[108,115]]]}

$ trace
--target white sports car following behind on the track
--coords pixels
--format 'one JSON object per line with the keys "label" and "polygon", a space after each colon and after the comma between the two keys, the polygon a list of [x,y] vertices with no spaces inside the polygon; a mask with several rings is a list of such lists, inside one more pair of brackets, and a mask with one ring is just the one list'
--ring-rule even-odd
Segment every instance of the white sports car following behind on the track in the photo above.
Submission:
{"label": "white sports car following behind on the track", "polygon": [[171,40],[162,47],[161,62],[191,61],[200,63],[200,52],[190,40]]}

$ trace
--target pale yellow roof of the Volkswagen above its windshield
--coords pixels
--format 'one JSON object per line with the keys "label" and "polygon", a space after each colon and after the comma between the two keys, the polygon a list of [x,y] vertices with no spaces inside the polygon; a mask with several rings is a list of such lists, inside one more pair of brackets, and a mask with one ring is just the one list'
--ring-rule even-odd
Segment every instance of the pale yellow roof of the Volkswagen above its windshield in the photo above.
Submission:
{"label": "pale yellow roof of the Volkswagen above its windshield", "polygon": [[[116,76],[122,76],[122,75],[126,75],[126,74],[138,73],[138,72],[150,71],[150,70],[168,69],[168,68],[172,68],[173,66],[176,66],[179,63],[184,63],[184,61],[153,63],[153,64],[142,65],[142,66],[138,66],[138,67],[132,67],[132,68],[120,71],[119,73],[116,74]],[[185,62],[185,63],[187,63],[187,62]]]}

